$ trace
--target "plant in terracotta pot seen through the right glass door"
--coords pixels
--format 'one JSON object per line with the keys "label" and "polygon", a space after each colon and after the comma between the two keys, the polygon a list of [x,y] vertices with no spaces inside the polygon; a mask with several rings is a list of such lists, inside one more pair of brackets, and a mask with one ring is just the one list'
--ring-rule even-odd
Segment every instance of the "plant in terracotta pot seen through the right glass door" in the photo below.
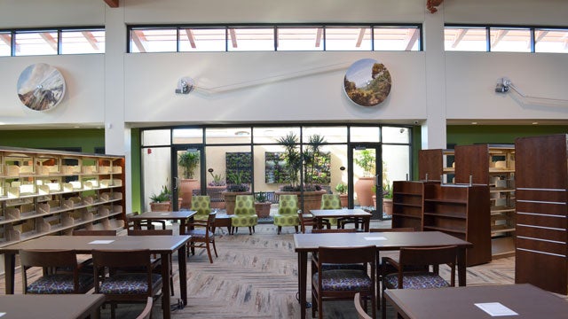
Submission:
{"label": "plant in terracotta pot seen through the right glass door", "polygon": [[371,206],[374,194],[371,187],[375,184],[375,150],[361,150],[353,160],[363,169],[363,176],[354,185],[359,205]]}

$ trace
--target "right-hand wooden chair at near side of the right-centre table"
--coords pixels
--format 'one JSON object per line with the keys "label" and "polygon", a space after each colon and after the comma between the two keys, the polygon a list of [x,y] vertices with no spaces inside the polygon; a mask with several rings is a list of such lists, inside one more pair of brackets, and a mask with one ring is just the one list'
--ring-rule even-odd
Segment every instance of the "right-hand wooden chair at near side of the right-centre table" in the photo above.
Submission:
{"label": "right-hand wooden chair at near side of the right-centre table", "polygon": [[[390,264],[397,269],[396,273],[383,276],[383,291],[385,289],[428,289],[455,286],[455,266],[457,258],[457,246],[439,247],[407,247],[400,248],[399,261],[390,257],[383,257],[383,264]],[[450,267],[450,283],[439,276],[439,265],[446,264]],[[430,270],[430,266],[432,269]],[[427,269],[412,269],[408,267]],[[384,292],[381,293],[383,301],[382,315],[386,317]]]}

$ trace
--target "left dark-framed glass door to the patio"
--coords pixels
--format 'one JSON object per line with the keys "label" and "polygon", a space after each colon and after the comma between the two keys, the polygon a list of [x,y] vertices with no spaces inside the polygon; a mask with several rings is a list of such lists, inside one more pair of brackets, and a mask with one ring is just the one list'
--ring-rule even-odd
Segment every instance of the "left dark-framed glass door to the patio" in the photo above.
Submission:
{"label": "left dark-framed glass door to the patio", "polygon": [[171,174],[173,176],[172,204],[173,210],[189,210],[192,196],[201,194],[205,181],[205,162],[201,144],[182,144],[172,147]]}

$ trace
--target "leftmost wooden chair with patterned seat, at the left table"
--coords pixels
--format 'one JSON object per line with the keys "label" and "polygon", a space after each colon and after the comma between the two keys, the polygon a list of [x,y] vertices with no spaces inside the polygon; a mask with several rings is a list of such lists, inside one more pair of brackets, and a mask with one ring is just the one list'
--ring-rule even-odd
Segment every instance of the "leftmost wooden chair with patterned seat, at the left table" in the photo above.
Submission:
{"label": "leftmost wooden chair with patterned seat, at the left table", "polygon": [[[92,272],[79,271],[74,251],[20,250],[20,261],[23,293],[85,293],[93,287]],[[28,284],[28,269],[33,267],[43,268],[43,276]]]}

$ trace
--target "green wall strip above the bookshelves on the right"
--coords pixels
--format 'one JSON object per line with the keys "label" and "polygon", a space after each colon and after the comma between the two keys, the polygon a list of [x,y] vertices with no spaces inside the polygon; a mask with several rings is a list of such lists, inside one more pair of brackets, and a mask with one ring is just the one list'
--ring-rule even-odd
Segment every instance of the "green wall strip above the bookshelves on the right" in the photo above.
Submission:
{"label": "green wall strip above the bookshelves on the right", "polygon": [[568,134],[567,125],[449,125],[448,148],[470,144],[515,144],[517,137]]}

